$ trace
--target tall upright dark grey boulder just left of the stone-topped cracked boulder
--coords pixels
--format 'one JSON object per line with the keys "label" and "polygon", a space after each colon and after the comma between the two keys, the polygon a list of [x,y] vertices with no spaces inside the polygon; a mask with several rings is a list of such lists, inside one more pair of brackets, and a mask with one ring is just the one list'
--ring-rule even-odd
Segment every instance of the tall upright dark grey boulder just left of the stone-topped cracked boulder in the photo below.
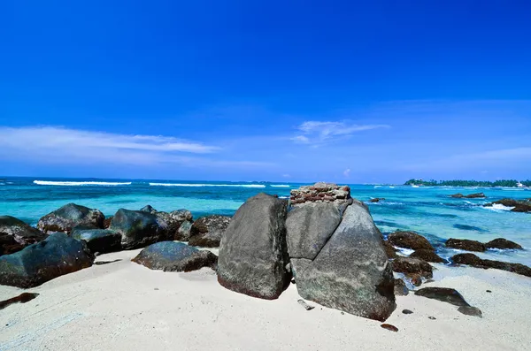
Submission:
{"label": "tall upright dark grey boulder just left of the stone-topped cracked boulder", "polygon": [[264,193],[242,204],[221,240],[219,284],[267,300],[280,296],[291,278],[285,268],[287,213],[286,200]]}

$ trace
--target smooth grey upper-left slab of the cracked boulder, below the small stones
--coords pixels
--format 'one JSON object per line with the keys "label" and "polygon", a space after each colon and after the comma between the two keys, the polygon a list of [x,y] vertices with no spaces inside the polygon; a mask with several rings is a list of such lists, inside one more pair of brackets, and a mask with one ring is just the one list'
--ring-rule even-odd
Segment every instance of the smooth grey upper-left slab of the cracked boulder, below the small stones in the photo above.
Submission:
{"label": "smooth grey upper-left slab of the cracked boulder, below the small stones", "polygon": [[313,202],[289,211],[286,219],[291,258],[314,259],[341,222],[333,202]]}

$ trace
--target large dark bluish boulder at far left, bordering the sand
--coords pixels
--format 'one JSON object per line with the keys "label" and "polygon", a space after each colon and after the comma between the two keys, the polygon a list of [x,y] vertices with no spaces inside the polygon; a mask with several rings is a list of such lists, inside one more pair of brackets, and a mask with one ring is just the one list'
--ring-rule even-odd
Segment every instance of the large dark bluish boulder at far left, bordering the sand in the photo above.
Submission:
{"label": "large dark bluish boulder at far left, bordering the sand", "polygon": [[28,288],[90,267],[94,256],[82,241],[65,233],[53,233],[45,240],[17,253],[0,256],[0,285]]}

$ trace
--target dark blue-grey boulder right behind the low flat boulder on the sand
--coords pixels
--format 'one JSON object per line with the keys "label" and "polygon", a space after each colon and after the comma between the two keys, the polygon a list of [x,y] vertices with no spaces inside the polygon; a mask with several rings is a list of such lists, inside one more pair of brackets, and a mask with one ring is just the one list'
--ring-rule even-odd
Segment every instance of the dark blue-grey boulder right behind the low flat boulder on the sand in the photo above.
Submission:
{"label": "dark blue-grey boulder right behind the low flat boulder on the sand", "polygon": [[123,249],[144,248],[168,237],[167,225],[156,215],[140,210],[119,209],[109,230],[121,235]]}

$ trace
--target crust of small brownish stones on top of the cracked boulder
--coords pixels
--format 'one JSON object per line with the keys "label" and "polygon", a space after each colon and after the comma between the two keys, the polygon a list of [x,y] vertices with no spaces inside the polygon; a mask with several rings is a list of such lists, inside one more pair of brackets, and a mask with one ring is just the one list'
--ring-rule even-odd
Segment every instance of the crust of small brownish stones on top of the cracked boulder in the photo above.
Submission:
{"label": "crust of small brownish stones on top of the cracked boulder", "polygon": [[299,187],[291,190],[290,202],[295,205],[305,202],[348,202],[350,187],[338,186],[334,183],[315,183],[312,186]]}

